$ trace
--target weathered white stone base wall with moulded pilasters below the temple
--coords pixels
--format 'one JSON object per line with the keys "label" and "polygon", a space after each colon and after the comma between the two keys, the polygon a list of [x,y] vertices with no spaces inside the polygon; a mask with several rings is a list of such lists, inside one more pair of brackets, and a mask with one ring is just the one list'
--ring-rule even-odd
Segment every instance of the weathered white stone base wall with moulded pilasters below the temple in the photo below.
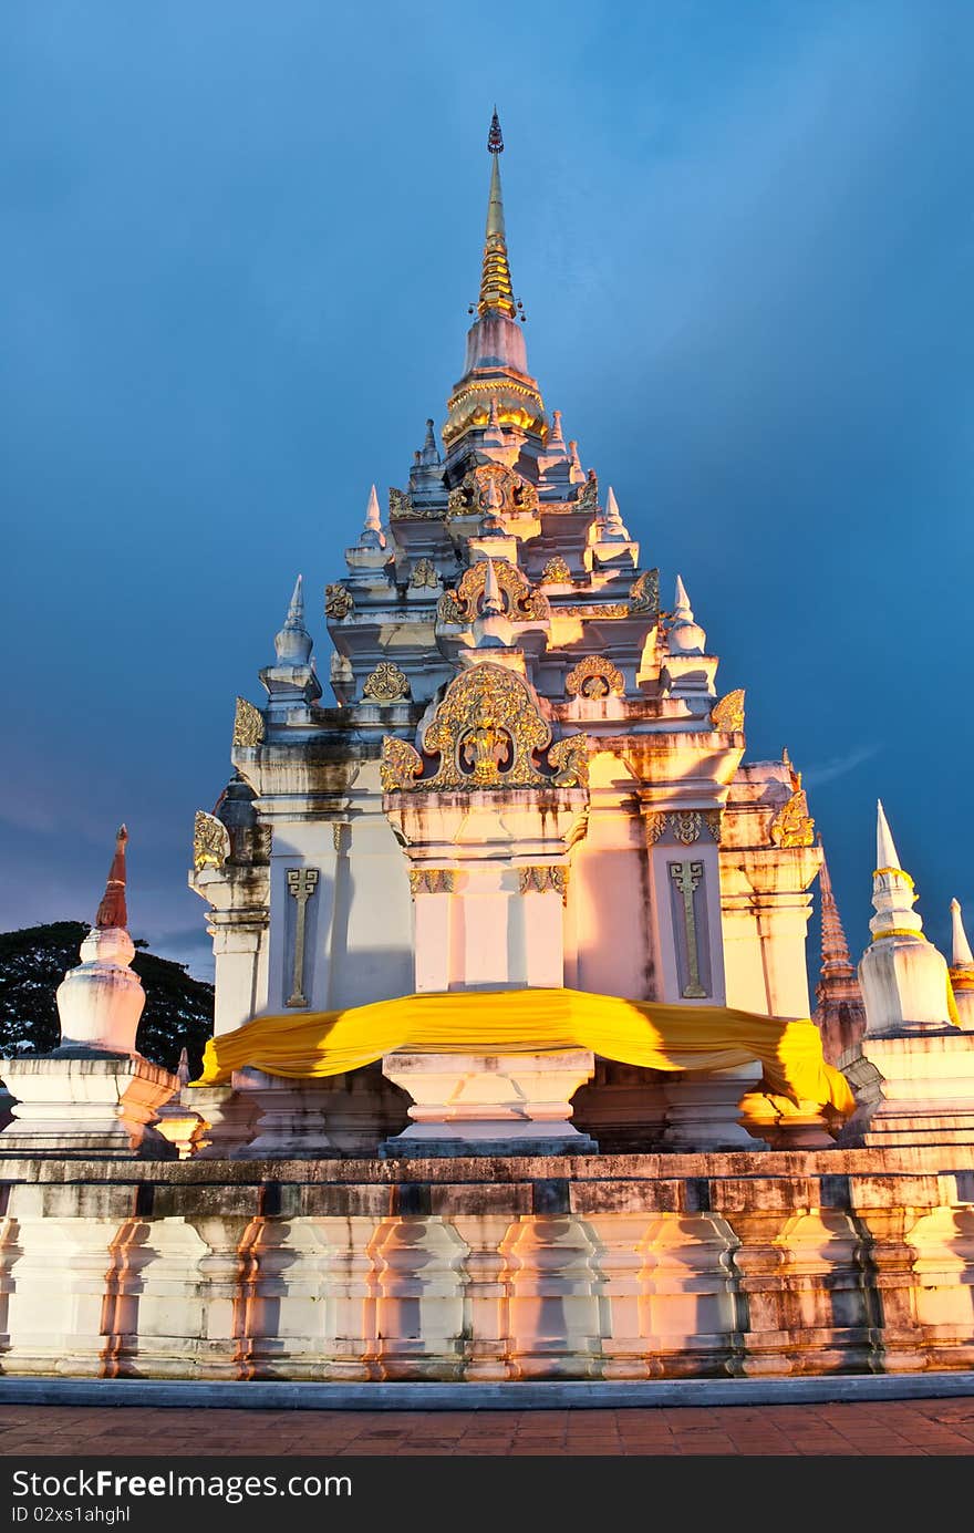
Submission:
{"label": "weathered white stone base wall with moulded pilasters below the temple", "polygon": [[8,1377],[974,1367],[974,1148],[0,1162]]}

